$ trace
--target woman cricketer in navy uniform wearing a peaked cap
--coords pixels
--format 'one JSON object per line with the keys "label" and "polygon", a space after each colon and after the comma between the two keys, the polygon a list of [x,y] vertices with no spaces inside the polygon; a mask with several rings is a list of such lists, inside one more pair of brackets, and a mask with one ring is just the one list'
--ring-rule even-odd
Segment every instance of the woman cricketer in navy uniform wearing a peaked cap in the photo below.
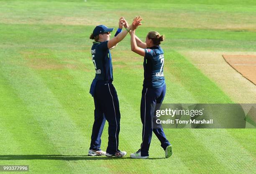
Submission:
{"label": "woman cricketer in navy uniform wearing a peaked cap", "polygon": [[[113,66],[110,49],[116,46],[118,42],[123,40],[131,27],[125,28],[121,32],[122,18],[119,20],[119,29],[115,37],[110,40],[110,32],[113,28],[108,28],[105,25],[98,25],[93,30],[91,39],[94,39],[91,53],[92,62],[95,66],[95,78],[92,81],[90,93],[94,98],[95,103],[95,121],[92,127],[91,144],[88,152],[89,156],[106,155],[106,156],[125,156],[125,151],[118,149],[118,136],[120,131],[120,110],[118,95],[113,81]],[[101,135],[105,125],[108,121],[108,147],[106,152],[100,149]]]}

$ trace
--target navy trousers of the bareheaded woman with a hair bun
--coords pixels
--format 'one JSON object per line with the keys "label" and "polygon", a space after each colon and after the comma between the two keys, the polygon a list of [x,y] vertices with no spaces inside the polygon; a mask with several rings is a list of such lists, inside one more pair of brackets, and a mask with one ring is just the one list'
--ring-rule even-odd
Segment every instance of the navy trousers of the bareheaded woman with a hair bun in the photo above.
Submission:
{"label": "navy trousers of the bareheaded woman with a hair bun", "polygon": [[148,150],[151,143],[152,131],[156,135],[156,137],[161,142],[161,147],[165,150],[167,146],[171,145],[169,141],[166,139],[164,134],[164,130],[161,129],[153,129],[152,120],[154,118],[154,113],[157,108],[153,108],[154,106],[151,103],[162,103],[164,100],[164,96],[166,93],[166,85],[161,88],[146,88],[142,89],[141,96],[141,122],[143,124],[142,127],[142,143],[141,149],[137,152],[141,151],[141,156],[149,156]]}

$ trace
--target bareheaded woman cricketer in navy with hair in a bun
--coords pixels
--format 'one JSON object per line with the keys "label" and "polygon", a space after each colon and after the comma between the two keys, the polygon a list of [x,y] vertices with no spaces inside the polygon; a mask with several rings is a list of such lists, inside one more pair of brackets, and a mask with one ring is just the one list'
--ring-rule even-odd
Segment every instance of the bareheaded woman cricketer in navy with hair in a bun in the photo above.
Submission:
{"label": "bareheaded woman cricketer in navy with hair in a bun", "polygon": [[[138,20],[138,19],[137,19]],[[136,29],[136,28],[135,28]],[[131,50],[144,57],[144,81],[141,96],[141,122],[142,143],[141,148],[131,158],[148,158],[148,150],[151,143],[152,131],[161,142],[166,158],[172,155],[172,145],[166,139],[162,128],[153,129],[152,119],[156,108],[151,103],[162,103],[166,93],[164,81],[164,52],[160,47],[164,36],[156,31],[149,32],[146,36],[146,43],[143,43],[136,35],[135,29],[131,30]]]}

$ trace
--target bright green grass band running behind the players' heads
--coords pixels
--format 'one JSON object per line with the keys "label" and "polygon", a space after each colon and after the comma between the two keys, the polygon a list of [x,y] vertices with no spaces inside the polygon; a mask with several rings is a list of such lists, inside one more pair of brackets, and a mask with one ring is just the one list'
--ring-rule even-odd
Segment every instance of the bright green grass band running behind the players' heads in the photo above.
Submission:
{"label": "bright green grass band running behind the players' heads", "polygon": [[[94,26],[73,25],[28,25],[0,24],[0,38],[4,42],[1,47],[13,45],[27,47],[88,47],[91,46],[89,36]],[[191,29],[191,28],[150,28],[142,27],[136,31],[142,40],[150,30],[157,30],[166,36],[162,43],[165,49],[200,49],[200,50],[244,50],[254,51],[256,34],[251,30],[222,30],[222,29]],[[121,47],[129,49],[129,36]],[[118,46],[120,48],[120,46]]]}

